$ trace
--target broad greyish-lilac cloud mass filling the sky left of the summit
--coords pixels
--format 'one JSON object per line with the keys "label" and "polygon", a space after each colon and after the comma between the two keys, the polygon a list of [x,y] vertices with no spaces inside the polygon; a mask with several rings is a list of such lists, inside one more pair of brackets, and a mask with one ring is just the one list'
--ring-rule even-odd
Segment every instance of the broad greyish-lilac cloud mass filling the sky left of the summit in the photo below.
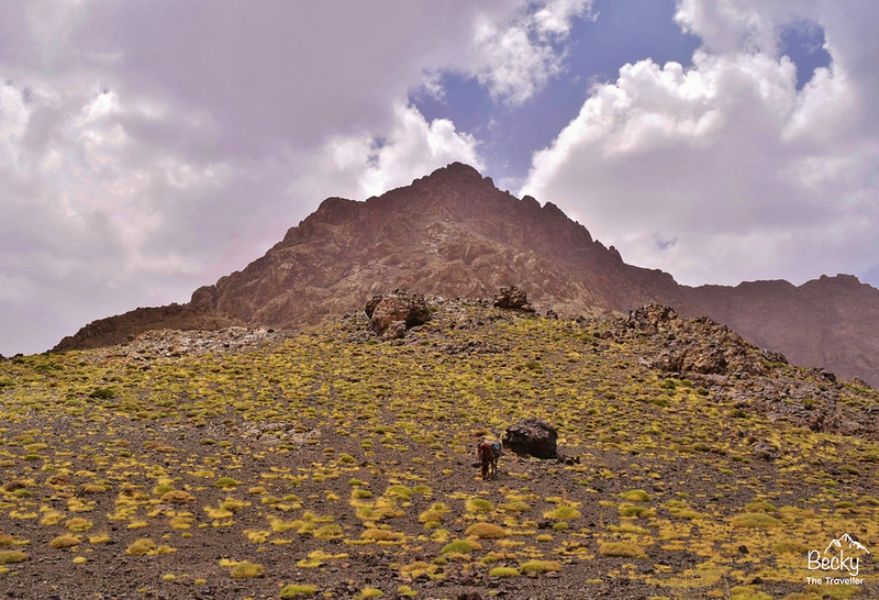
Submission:
{"label": "broad greyish-lilac cloud mass filling the sky left of the summit", "polygon": [[[427,122],[410,91],[442,96],[437,74],[454,71],[524,101],[560,73],[587,8],[0,5],[0,352],[42,351],[90,320],[186,301],[326,196],[365,198],[450,160],[481,166],[478,140]],[[505,52],[492,52],[492,36]],[[514,74],[511,62],[528,56]]]}

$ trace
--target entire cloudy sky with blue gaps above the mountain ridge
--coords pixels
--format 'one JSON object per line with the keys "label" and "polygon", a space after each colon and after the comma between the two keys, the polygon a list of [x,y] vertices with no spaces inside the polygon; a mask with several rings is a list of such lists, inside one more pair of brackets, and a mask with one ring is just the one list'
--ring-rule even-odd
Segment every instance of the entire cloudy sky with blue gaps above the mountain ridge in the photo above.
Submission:
{"label": "entire cloudy sky with blue gaps above the mountain ridge", "polygon": [[0,3],[0,354],[460,160],[687,285],[879,285],[872,0]]}

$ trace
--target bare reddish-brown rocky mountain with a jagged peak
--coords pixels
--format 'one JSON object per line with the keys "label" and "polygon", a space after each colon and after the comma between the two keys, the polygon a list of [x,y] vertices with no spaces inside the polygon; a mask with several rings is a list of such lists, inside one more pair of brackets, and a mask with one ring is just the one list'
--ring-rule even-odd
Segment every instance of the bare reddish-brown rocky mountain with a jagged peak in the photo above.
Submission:
{"label": "bare reddish-brown rocky mountain with a jagged peak", "polygon": [[299,327],[396,288],[490,297],[516,284],[539,311],[613,315],[661,302],[708,315],[797,364],[879,384],[879,290],[850,276],[794,287],[758,281],[686,287],[625,264],[555,204],[499,190],[458,163],[365,202],[329,198],[241,271],[179,307],[96,321],[56,351],[115,344],[144,331]]}

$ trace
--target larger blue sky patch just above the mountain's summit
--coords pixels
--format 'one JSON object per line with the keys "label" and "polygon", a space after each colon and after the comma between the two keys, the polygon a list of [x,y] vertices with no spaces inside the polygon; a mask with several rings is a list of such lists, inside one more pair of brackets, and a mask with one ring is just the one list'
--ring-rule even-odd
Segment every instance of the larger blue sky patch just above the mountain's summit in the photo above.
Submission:
{"label": "larger blue sky patch just above the mountain's summit", "polygon": [[450,119],[458,131],[477,136],[486,170],[499,181],[523,179],[532,154],[577,116],[592,85],[615,80],[620,67],[645,58],[690,66],[700,45],[675,23],[674,0],[598,0],[593,13],[597,19],[574,23],[565,71],[521,107],[494,102],[475,77],[454,73],[439,79],[443,98],[422,89],[410,101],[427,121]]}

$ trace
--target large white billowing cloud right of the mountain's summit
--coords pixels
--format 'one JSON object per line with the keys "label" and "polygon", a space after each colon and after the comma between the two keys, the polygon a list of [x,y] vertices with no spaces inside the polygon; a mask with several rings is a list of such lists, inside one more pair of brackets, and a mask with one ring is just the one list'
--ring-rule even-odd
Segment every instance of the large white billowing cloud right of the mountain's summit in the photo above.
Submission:
{"label": "large white billowing cloud right of the mountain's summit", "polygon": [[[680,2],[704,42],[692,67],[647,59],[596,85],[522,192],[687,284],[875,269],[879,98],[874,48],[858,46],[868,26],[854,23],[875,11],[832,4]],[[832,64],[798,91],[776,41],[803,19],[824,29]]]}

